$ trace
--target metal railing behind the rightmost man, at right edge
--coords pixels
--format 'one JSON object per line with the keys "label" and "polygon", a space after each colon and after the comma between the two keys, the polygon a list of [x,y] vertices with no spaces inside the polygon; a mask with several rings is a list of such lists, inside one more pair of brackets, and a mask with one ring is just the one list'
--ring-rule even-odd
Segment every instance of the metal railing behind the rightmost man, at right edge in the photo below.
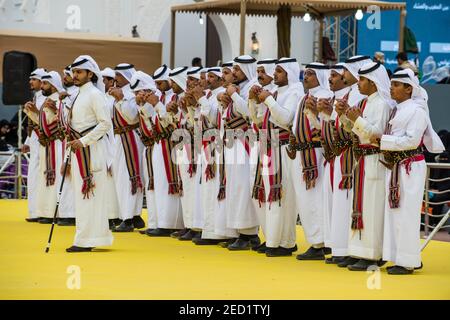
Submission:
{"label": "metal railing behind the rightmost man, at right edge", "polygon": [[[450,170],[450,164],[448,163],[427,163],[427,178],[425,181],[425,199],[424,199],[424,211],[422,214],[424,215],[424,222],[421,222],[421,225],[424,226],[424,232],[426,240],[422,245],[421,250],[423,250],[427,244],[430,242],[430,240],[434,237],[434,235],[440,230],[440,229],[446,229],[450,228],[450,225],[444,225],[447,220],[450,217],[450,207],[447,207],[447,212],[441,213],[441,214],[431,214],[432,209],[430,205],[448,205],[450,204],[450,200],[444,200],[444,201],[430,201],[430,194],[429,192],[432,192],[433,194],[446,194],[450,193],[450,189],[436,191],[430,189],[430,182],[435,183],[442,183],[445,181],[449,181],[450,177],[442,178],[442,179],[433,179],[430,178],[430,171],[431,169],[440,169],[440,170]],[[441,218],[439,223],[435,226],[430,224],[430,217],[433,218]],[[431,230],[431,233],[430,233]]]}

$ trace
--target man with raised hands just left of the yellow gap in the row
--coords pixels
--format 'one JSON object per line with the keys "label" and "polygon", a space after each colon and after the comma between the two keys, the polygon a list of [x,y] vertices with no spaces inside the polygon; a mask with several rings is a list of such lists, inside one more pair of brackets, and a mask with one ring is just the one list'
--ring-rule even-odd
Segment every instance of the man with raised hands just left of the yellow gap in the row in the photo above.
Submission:
{"label": "man with raised hands just left of the yellow gap in the row", "polygon": [[265,89],[256,92],[259,101],[266,106],[259,142],[261,173],[257,171],[254,193],[265,208],[266,243],[258,252],[265,252],[267,257],[290,256],[297,250],[297,196],[290,177],[292,161],[288,160],[286,148],[290,125],[304,96],[299,75],[300,66],[295,58],[281,58],[274,73],[277,90],[273,94]]}

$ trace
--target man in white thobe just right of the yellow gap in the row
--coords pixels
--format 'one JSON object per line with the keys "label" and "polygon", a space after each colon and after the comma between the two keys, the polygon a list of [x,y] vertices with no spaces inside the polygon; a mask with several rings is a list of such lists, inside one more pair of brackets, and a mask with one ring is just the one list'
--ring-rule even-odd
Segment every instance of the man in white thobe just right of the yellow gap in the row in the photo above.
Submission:
{"label": "man in white thobe just right of the yellow gap in the row", "polygon": [[320,143],[324,114],[317,108],[319,99],[333,96],[328,78],[328,66],[317,62],[306,65],[303,85],[308,92],[300,101],[292,125],[293,138],[289,146],[293,152],[292,184],[298,195],[297,210],[306,241],[311,245],[306,252],[297,255],[298,260],[324,260],[328,254],[328,248],[324,247],[322,190],[327,177]]}

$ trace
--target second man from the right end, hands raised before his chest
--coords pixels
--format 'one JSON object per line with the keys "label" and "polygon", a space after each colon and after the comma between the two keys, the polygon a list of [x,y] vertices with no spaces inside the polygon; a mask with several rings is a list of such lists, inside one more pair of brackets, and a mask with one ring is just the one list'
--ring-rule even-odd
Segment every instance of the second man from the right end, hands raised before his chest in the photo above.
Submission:
{"label": "second man from the right end, hands raised before his chest", "polygon": [[353,145],[356,166],[348,247],[349,256],[358,260],[347,268],[366,271],[381,264],[386,180],[379,145],[370,139],[385,131],[395,102],[390,97],[389,76],[383,65],[369,62],[358,73],[359,90],[367,98],[345,111],[358,139]]}

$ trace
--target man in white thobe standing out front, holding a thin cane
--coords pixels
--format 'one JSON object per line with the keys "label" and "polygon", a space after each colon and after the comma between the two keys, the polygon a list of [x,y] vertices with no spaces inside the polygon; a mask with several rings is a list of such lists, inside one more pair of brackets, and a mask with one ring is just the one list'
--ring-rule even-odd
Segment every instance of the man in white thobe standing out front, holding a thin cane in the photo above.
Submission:
{"label": "man in white thobe standing out front, holding a thin cane", "polygon": [[105,146],[112,123],[105,107],[102,75],[95,60],[87,55],[79,56],[72,63],[72,72],[74,83],[79,87],[68,119],[76,233],[73,246],[66,251],[87,252],[113,242],[108,226]]}

